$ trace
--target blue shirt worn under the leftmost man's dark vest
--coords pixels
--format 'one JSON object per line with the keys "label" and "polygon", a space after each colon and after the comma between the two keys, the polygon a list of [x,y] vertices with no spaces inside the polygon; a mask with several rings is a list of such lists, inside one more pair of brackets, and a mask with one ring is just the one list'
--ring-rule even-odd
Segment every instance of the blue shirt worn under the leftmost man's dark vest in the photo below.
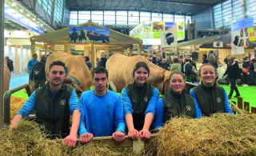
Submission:
{"label": "blue shirt worn under the leftmost man's dark vest", "polygon": [[[26,116],[28,116],[31,113],[31,111],[34,109],[35,91],[30,95],[30,98],[28,98],[26,100],[26,102],[24,103],[22,108],[20,110],[18,110],[18,112],[17,112],[17,114],[22,115],[22,118],[25,118]],[[55,95],[56,94],[52,93],[53,99],[54,99]],[[72,90],[72,93],[70,95],[69,104],[70,104],[70,114],[73,114],[74,110],[80,110],[78,96],[77,96],[75,90]]]}

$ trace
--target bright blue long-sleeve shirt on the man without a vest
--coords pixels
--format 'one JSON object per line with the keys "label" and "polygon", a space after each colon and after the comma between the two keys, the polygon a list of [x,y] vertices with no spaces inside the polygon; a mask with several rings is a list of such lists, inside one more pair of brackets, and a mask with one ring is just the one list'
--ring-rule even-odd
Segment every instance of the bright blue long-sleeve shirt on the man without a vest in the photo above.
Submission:
{"label": "bright blue long-sleeve shirt on the man without a vest", "polygon": [[94,134],[94,137],[112,136],[115,131],[125,133],[122,101],[118,94],[109,90],[98,96],[94,90],[82,93],[80,98],[81,120],[78,135]]}

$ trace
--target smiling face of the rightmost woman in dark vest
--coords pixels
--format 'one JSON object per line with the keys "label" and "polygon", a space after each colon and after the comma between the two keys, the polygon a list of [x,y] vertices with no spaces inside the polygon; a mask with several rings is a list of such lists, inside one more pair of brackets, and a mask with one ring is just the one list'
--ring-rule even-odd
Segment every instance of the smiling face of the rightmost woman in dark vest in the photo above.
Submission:
{"label": "smiling face of the rightmost woman in dark vest", "polygon": [[216,74],[213,66],[202,66],[200,76],[205,86],[214,86]]}

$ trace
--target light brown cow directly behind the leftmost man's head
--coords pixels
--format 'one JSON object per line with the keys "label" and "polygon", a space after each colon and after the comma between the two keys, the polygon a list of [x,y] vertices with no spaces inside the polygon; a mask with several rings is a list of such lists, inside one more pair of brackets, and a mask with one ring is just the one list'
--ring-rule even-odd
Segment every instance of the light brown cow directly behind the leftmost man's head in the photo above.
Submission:
{"label": "light brown cow directly behind the leftmost man's head", "polygon": [[62,51],[54,52],[47,58],[46,73],[49,73],[50,63],[57,60],[65,63],[67,67],[67,78],[65,78],[64,82],[75,88],[78,97],[80,97],[83,91],[90,89],[92,84],[90,70],[82,57],[67,54]]}

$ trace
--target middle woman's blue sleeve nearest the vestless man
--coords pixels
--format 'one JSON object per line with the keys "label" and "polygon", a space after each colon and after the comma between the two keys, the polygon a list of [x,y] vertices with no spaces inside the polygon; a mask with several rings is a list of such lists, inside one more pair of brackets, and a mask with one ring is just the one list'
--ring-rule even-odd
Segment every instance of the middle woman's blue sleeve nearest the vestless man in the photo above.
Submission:
{"label": "middle woman's blue sleeve nearest the vestless man", "polygon": [[125,116],[126,116],[126,114],[133,114],[134,110],[131,106],[130,98],[127,94],[126,88],[122,89],[121,98],[122,98],[122,105],[123,105]]}

